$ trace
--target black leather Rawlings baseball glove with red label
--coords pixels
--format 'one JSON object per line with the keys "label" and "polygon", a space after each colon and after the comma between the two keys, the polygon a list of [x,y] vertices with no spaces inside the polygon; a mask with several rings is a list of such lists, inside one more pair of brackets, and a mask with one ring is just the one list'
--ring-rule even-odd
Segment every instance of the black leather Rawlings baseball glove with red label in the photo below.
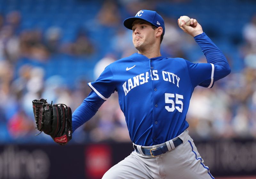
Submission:
{"label": "black leather Rawlings baseball glove with red label", "polygon": [[52,105],[52,103],[47,103],[46,99],[35,99],[32,103],[37,130],[44,131],[60,145],[67,144],[72,138],[70,107],[64,104]]}

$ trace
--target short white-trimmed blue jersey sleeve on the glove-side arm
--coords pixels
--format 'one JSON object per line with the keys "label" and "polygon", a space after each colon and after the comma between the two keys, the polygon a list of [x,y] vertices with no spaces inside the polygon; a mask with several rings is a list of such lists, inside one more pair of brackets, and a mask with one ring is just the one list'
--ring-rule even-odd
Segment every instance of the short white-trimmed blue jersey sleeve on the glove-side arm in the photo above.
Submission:
{"label": "short white-trimmed blue jersey sleeve on the glove-side arm", "polygon": [[116,90],[114,76],[110,66],[105,68],[95,82],[89,82],[88,85],[99,97],[107,100],[107,98]]}

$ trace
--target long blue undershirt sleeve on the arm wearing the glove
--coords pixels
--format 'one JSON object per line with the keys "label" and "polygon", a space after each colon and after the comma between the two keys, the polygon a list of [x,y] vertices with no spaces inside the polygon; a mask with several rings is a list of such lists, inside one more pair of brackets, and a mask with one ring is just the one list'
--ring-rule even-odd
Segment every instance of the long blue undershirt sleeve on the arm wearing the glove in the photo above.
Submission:
{"label": "long blue undershirt sleeve on the arm wearing the glove", "polygon": [[98,111],[100,106],[105,102],[99,97],[93,90],[86,97],[83,103],[76,108],[72,114],[72,130],[73,132],[83,125],[86,121],[89,121],[92,116]]}

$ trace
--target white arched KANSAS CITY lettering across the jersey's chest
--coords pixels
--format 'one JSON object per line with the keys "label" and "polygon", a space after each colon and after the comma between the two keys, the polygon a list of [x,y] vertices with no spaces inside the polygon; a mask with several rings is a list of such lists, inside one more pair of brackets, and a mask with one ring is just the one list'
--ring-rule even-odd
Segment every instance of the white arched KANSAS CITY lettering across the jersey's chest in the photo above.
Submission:
{"label": "white arched KANSAS CITY lettering across the jersey's chest", "polygon": [[[157,70],[150,70],[150,77],[151,80],[159,80],[159,75]],[[179,82],[180,77],[176,74],[173,74],[171,72],[162,71],[162,77],[163,80],[166,82],[172,82],[173,84],[176,84],[179,88]],[[123,89],[125,96],[131,91],[131,89],[140,86],[144,83],[147,83],[149,79],[149,72],[139,74],[137,76],[134,76],[133,78],[128,79],[128,81],[124,82]]]}

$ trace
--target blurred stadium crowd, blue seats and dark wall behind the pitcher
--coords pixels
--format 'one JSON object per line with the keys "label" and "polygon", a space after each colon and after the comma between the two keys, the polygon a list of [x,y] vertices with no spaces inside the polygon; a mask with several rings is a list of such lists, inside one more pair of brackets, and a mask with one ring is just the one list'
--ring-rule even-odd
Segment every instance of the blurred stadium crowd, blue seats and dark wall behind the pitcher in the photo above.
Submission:
{"label": "blurred stadium crowd, blue seats and dark wall behind the pitcher", "polygon": [[226,55],[231,74],[210,90],[196,87],[188,129],[216,179],[256,178],[255,0],[0,0],[0,179],[97,179],[132,152],[116,93],[67,146],[34,136],[32,100],[74,111],[87,82],[136,52],[123,20],[141,9],[165,20],[163,56],[205,62],[179,29],[181,15],[197,19]]}

